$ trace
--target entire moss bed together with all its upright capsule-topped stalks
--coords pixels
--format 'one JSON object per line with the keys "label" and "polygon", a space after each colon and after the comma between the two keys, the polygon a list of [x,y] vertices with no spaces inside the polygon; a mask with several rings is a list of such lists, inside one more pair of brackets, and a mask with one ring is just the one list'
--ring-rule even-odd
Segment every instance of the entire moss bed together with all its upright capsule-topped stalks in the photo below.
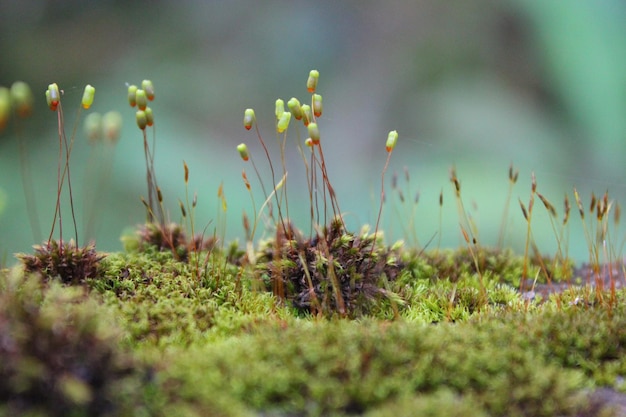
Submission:
{"label": "entire moss bed together with all its upright capsule-topped stalks", "polygon": [[[453,167],[463,246],[441,247],[443,189],[438,236],[420,244],[419,193],[408,169],[393,172],[387,193],[391,154],[402,143],[392,130],[384,142],[376,223],[351,231],[324,158],[332,144],[324,136],[322,86],[313,70],[306,99],[273,103],[276,143],[262,136],[255,111],[244,111],[244,130],[255,144],[236,147],[252,210],[242,214],[240,247],[224,241],[222,184],[215,219],[196,224],[198,196],[190,193],[186,162],[181,221],[170,220],[154,163],[155,88],[150,80],[129,85],[144,150],[146,221],[124,237],[124,252],[110,254],[86,238],[79,245],[71,183],[77,126],[95,89],[85,88],[68,138],[64,92],[48,86],[46,100],[57,116],[56,206],[47,240],[34,254],[19,254],[21,265],[0,271],[0,357],[7,358],[0,361],[0,416],[619,415],[615,406],[626,390],[619,204],[608,192],[592,194],[587,204],[574,189],[559,214],[531,174],[530,195],[518,200],[525,226],[518,256],[503,247],[518,170],[509,167],[491,248],[465,208]],[[0,88],[0,128],[14,124],[21,143],[17,127],[32,103],[25,83]],[[112,146],[121,119],[117,112],[90,112],[84,133]],[[292,137],[306,178],[302,228],[290,216],[297,191],[287,175]],[[256,161],[259,147],[264,157]],[[28,155],[20,152],[37,236]],[[106,176],[99,180],[106,188]],[[255,200],[259,195],[262,201]],[[85,202],[85,236],[93,236],[98,201]],[[552,256],[541,254],[533,235],[538,202],[557,242]],[[568,251],[572,204],[590,255],[579,267]],[[403,241],[385,242],[383,207],[403,219]]]}

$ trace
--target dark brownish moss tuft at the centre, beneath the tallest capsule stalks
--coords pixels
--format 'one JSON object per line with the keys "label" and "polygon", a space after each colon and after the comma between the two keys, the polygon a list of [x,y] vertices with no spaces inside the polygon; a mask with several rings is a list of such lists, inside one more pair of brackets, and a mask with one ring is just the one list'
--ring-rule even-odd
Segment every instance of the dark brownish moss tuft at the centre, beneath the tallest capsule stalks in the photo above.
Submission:
{"label": "dark brownish moss tuft at the centre, beneath the tallest capsule stalks", "polygon": [[340,219],[307,239],[292,225],[286,227],[264,242],[258,256],[257,270],[266,277],[268,290],[303,313],[350,318],[373,311],[393,314],[386,283],[402,269],[398,249],[385,247],[367,228],[347,232]]}

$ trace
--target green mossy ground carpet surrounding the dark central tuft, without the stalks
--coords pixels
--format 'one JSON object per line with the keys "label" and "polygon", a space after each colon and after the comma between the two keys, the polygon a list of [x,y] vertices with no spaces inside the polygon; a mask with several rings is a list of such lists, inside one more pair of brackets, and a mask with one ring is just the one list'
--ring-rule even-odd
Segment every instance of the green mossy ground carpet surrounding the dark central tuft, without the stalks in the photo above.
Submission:
{"label": "green mossy ground carpet surrounding the dark central tuft, without the stalks", "polygon": [[398,253],[351,319],[219,250],[108,254],[71,286],[5,270],[0,415],[618,415],[593,393],[626,391],[626,292],[529,300],[512,253],[481,251],[480,274],[465,250]]}

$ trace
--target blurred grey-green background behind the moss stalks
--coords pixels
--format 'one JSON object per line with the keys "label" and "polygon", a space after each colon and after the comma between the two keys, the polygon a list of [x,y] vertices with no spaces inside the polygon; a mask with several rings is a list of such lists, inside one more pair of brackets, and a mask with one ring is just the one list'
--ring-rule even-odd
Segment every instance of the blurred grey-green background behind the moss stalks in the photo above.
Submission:
{"label": "blurred grey-green background behind the moss stalks", "polygon": [[[79,129],[71,165],[79,237],[112,251],[121,249],[125,230],[145,220],[142,141],[126,83],[148,78],[155,85],[155,167],[172,220],[180,220],[178,199],[185,197],[184,160],[189,192],[198,193],[196,224],[208,225],[209,234],[225,227],[228,240],[241,240],[242,211],[252,210],[243,168],[257,206],[262,198],[236,145],[247,142],[266,186],[271,178],[258,139],[243,129],[243,111],[256,110],[280,166],[274,101],[306,101],[313,68],[321,73],[320,129],[330,179],[351,227],[375,223],[384,142],[396,129],[382,221],[390,241],[415,244],[417,238],[424,245],[436,235],[430,247],[439,237],[444,246],[462,244],[449,182],[454,165],[480,241],[495,245],[513,163],[520,179],[505,244],[520,251],[525,223],[517,200],[528,202],[532,172],[559,216],[574,186],[585,202],[592,191],[606,190],[624,200],[624,22],[621,0],[0,0],[0,85],[26,81],[37,99],[31,118],[0,134],[3,262],[50,231],[58,139],[56,115],[44,99],[49,83],[64,90],[68,134],[87,83],[96,87],[92,111],[124,116],[114,150],[90,146]],[[286,155],[290,214],[307,229],[294,131]],[[22,189],[19,140],[34,180],[35,228]],[[390,188],[394,171],[405,203]],[[217,197],[222,183],[226,212]],[[554,253],[555,234],[537,203],[533,233],[540,250]],[[73,233],[68,214],[65,206],[65,236]],[[584,261],[588,247],[576,210],[570,223],[570,253]],[[621,249],[621,229],[613,238]]]}

